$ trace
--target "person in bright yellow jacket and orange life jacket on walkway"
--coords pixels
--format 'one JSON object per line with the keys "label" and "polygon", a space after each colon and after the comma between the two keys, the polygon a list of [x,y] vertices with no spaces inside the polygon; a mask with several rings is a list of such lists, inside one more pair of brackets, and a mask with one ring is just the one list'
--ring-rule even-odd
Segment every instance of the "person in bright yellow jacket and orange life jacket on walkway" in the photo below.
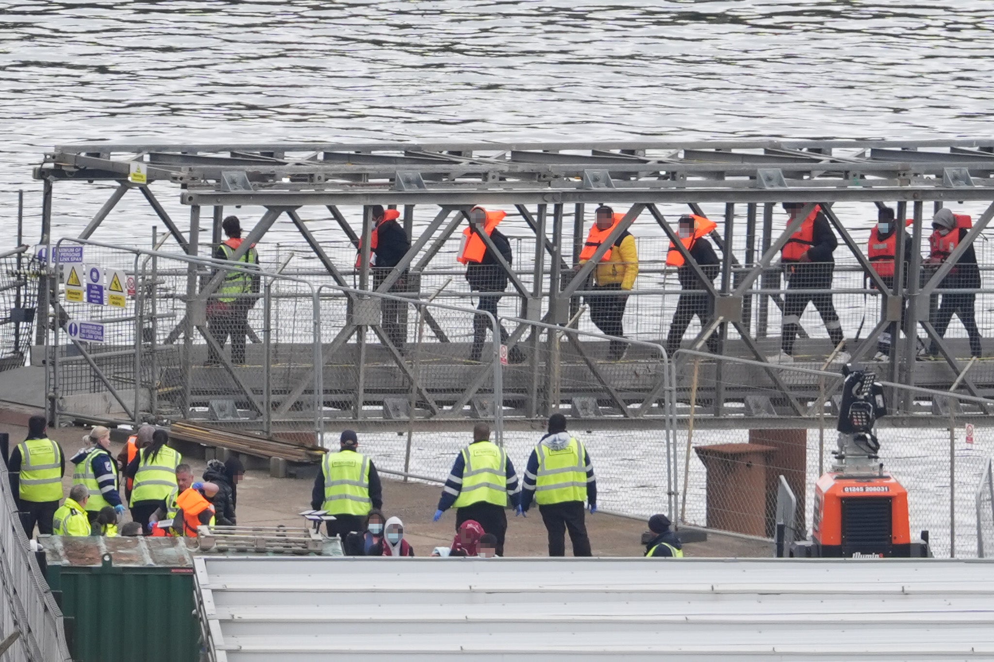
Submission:
{"label": "person in bright yellow jacket and orange life jacket on walkway", "polygon": [[[609,206],[600,205],[594,212],[593,227],[586,236],[586,243],[580,252],[580,264],[593,257],[597,247],[607,238],[614,226],[621,221],[624,214],[614,213]],[[604,294],[590,295],[585,298],[590,307],[590,322],[604,335],[624,337],[624,309],[628,303],[628,295],[624,294],[635,286],[638,275],[638,251],[635,247],[635,237],[625,230],[614,240],[610,250],[605,252],[597,267],[593,270],[593,287],[591,289]],[[622,340],[611,340],[608,344],[608,360],[620,360],[628,345]]]}

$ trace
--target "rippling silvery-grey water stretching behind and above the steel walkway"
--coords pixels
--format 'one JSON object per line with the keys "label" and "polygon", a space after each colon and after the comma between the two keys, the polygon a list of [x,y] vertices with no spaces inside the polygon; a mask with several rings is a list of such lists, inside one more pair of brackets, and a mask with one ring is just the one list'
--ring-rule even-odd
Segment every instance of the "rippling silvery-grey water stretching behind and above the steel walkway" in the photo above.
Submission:
{"label": "rippling silvery-grey water stretching behind and above the steel walkway", "polygon": [[[0,1],[0,213],[25,188],[34,231],[32,163],[82,140],[986,136],[990,16],[989,0]],[[105,197],[72,191],[67,228]],[[107,228],[144,241],[134,220]]]}

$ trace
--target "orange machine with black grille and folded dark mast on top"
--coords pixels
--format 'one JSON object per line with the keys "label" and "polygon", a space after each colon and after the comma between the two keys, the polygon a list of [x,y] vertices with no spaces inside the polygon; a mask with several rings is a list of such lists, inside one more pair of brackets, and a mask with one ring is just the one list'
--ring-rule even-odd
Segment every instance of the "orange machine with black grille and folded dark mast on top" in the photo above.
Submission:
{"label": "orange machine with black grille and folded dark mast on top", "polygon": [[908,490],[884,472],[874,435],[887,415],[884,388],[872,372],[843,368],[838,451],[832,470],[815,483],[811,540],[791,557],[928,557],[928,532],[911,540]]}

